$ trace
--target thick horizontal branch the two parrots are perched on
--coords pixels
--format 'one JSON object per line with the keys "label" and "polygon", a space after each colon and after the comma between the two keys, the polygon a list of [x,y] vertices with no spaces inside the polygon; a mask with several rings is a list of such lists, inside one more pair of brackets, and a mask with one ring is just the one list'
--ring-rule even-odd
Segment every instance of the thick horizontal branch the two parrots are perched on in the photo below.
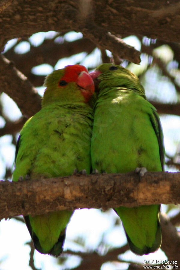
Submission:
{"label": "thick horizontal branch the two parrots are perched on", "polygon": [[0,182],[0,218],[78,208],[180,203],[180,173],[73,175]]}

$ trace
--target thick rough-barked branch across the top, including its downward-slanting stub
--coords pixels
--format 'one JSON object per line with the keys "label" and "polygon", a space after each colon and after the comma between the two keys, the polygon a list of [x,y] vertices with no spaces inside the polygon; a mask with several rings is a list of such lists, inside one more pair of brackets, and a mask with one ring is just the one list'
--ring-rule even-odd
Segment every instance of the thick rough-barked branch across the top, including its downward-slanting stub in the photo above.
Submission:
{"label": "thick rough-barked branch across the top, including its downward-slanting stub", "polygon": [[144,35],[179,42],[180,4],[172,1],[14,0],[0,7],[0,49],[16,37],[41,31],[82,32],[120,58],[140,63],[140,53],[122,35]]}

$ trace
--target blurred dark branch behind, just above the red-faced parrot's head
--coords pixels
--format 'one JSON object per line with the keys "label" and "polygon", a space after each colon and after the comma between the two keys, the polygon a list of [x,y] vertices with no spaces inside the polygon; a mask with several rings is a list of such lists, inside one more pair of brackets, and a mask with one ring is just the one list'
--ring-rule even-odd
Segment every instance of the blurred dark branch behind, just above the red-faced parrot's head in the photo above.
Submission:
{"label": "blurred dark branch behind, just above the red-faced parrot's head", "polygon": [[[63,41],[63,37],[62,38]],[[44,76],[36,76],[31,73],[32,67],[40,64],[50,64],[53,67],[60,58],[70,57],[71,55],[87,52],[88,54],[95,49],[96,45],[87,38],[81,38],[72,42],[63,41],[62,44],[55,43],[53,39],[46,39],[38,47],[31,46],[29,52],[17,54],[14,52],[14,47],[4,53],[5,57],[16,63],[16,68],[19,69],[33,85],[41,86],[44,82]],[[41,80],[36,82],[35,78]]]}

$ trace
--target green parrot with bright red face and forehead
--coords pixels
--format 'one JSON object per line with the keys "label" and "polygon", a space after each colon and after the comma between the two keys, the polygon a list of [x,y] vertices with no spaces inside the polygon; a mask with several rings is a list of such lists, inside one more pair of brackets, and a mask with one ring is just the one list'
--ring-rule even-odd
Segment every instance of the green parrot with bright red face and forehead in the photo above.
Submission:
{"label": "green parrot with bright red face and forehead", "polygon": [[[94,82],[81,65],[53,71],[46,79],[42,109],[23,126],[16,146],[13,181],[90,173],[93,109],[88,102]],[[62,252],[72,211],[25,216],[35,248],[43,254]]]}

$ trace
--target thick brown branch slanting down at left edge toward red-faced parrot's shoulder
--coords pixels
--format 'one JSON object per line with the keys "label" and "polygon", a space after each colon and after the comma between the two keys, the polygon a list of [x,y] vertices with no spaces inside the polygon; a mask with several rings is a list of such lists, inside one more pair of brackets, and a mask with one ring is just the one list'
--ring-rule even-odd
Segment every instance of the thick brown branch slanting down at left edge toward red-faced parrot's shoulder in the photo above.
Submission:
{"label": "thick brown branch slanting down at left edge toward red-faced parrot's shoulder", "polygon": [[13,63],[0,55],[0,90],[12,98],[28,118],[41,109],[41,96]]}

